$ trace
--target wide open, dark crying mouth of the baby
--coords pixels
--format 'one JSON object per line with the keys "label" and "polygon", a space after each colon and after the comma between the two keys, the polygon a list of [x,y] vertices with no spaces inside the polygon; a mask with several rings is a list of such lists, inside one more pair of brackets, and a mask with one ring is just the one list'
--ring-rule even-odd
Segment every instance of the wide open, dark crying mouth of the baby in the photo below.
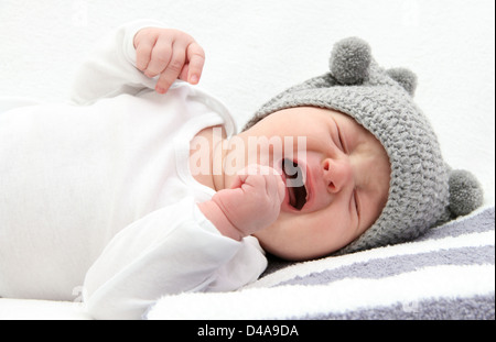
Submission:
{"label": "wide open, dark crying mouth of the baby", "polygon": [[285,176],[285,186],[291,207],[301,210],[308,200],[308,191],[303,180],[303,173],[298,163],[282,159],[282,172]]}

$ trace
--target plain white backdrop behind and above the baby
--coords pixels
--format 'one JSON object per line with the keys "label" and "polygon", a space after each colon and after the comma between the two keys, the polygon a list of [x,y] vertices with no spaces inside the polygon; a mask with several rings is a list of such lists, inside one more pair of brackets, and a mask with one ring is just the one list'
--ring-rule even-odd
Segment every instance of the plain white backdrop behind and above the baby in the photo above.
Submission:
{"label": "plain white backdrop behind and above the baby", "polygon": [[90,46],[150,18],[205,48],[201,86],[241,126],[271,96],[327,70],[332,45],[366,40],[384,67],[419,77],[416,99],[445,159],[472,170],[494,203],[493,0],[0,0],[0,97],[67,98]]}

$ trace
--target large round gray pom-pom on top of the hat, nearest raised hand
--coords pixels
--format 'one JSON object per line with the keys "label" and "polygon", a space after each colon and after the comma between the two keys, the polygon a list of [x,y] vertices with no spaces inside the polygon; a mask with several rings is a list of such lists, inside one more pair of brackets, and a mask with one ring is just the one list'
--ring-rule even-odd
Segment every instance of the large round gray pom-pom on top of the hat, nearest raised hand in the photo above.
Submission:
{"label": "large round gray pom-pom on top of the hat, nearest raised hand", "polygon": [[368,77],[370,60],[370,46],[367,42],[348,37],[334,45],[328,66],[338,82],[357,85]]}

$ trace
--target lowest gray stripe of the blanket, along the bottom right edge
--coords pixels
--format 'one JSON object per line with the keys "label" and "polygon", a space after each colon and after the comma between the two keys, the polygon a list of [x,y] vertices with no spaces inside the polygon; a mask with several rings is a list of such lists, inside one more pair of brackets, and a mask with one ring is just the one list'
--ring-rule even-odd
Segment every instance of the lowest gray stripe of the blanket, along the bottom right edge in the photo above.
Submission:
{"label": "lowest gray stripe of the blanket, along the bottom right edge", "polygon": [[495,297],[474,296],[468,298],[436,298],[418,302],[396,304],[389,307],[375,307],[366,310],[353,310],[344,313],[323,312],[305,315],[291,319],[315,320],[369,320],[369,319],[430,319],[430,320],[494,320]]}

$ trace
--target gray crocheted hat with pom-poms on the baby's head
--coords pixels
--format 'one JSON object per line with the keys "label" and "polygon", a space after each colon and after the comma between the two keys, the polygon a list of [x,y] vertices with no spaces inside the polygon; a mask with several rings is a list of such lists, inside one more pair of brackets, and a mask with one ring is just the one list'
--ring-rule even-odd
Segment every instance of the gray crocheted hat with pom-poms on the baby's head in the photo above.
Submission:
{"label": "gray crocheted hat with pom-poms on the baby's head", "polygon": [[244,128],[281,109],[319,107],[348,114],[380,141],[391,165],[388,201],[377,221],[336,254],[412,240],[483,202],[476,178],[444,163],[428,119],[413,103],[416,87],[413,73],[380,68],[368,44],[351,37],[334,45],[330,73],[272,98]]}

